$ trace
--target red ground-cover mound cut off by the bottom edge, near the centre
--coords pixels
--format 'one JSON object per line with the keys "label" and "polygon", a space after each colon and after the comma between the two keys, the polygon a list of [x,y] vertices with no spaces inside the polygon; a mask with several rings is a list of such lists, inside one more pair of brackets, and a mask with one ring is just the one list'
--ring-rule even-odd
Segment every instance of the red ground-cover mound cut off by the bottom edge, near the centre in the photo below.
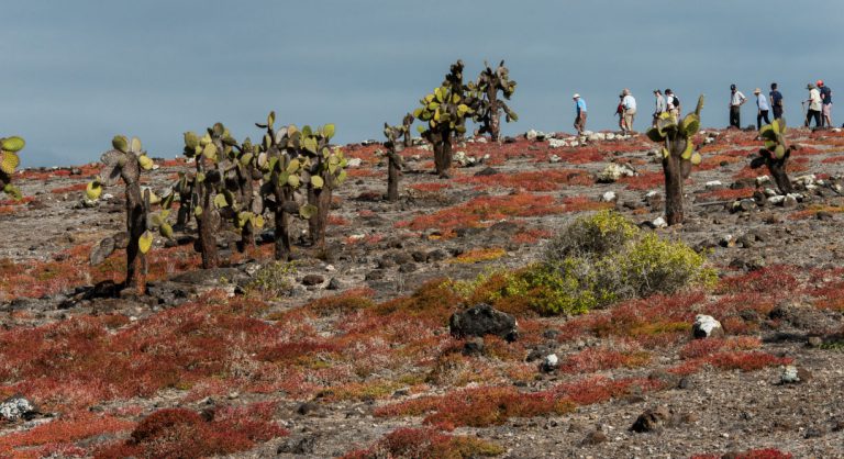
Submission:
{"label": "red ground-cover mound cut off by the bottom edge, near the centre", "polygon": [[343,456],[343,459],[440,458],[464,459],[498,456],[500,446],[477,437],[453,436],[432,428],[399,428],[367,449]]}

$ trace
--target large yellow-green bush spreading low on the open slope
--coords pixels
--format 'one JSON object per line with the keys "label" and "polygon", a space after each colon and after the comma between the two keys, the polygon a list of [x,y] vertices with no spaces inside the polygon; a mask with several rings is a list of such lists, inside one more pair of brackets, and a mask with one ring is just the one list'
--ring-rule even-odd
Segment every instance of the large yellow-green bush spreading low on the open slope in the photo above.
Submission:
{"label": "large yellow-green bush spreading low on the open slope", "polygon": [[[543,261],[464,284],[464,296],[543,315],[580,314],[618,301],[675,293],[717,281],[706,257],[644,233],[615,212],[580,217],[551,242]],[[467,287],[469,289],[467,289]]]}

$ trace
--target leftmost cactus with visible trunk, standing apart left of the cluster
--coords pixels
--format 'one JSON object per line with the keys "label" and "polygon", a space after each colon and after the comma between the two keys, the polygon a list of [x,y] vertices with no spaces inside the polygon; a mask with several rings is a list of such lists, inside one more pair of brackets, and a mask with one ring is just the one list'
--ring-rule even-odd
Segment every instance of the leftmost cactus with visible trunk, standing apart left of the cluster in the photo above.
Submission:
{"label": "leftmost cactus with visible trunk, standing apart left of the cluster", "polygon": [[[146,253],[153,245],[151,228],[158,226],[163,235],[169,237],[173,233],[164,219],[157,216],[154,222],[147,222],[153,195],[149,189],[141,190],[141,171],[153,168],[153,160],[146,155],[141,139],[127,139],[116,135],[111,141],[112,149],[100,157],[103,164],[99,177],[88,183],[86,194],[90,200],[97,200],[103,187],[116,184],[119,179],[125,184],[126,198],[126,281],[125,287],[143,288],[143,276],[146,275]],[[157,198],[156,198],[157,199]],[[138,269],[140,268],[140,269]]]}

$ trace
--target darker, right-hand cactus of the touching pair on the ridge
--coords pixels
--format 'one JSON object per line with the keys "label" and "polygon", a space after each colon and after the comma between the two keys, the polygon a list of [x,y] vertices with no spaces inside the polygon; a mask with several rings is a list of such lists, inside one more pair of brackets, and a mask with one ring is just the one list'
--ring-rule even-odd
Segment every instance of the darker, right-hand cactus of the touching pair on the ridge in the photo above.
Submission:
{"label": "darker, right-hand cactus of the touching pair on the ridge", "polygon": [[487,61],[484,61],[484,67],[477,82],[468,85],[469,91],[477,91],[479,101],[474,120],[481,123],[481,134],[489,133],[492,142],[498,142],[501,136],[501,111],[504,112],[508,123],[519,121],[519,115],[498,98],[498,91],[501,91],[504,99],[510,100],[515,91],[515,81],[510,80],[510,70],[504,67],[503,60],[495,70]]}

